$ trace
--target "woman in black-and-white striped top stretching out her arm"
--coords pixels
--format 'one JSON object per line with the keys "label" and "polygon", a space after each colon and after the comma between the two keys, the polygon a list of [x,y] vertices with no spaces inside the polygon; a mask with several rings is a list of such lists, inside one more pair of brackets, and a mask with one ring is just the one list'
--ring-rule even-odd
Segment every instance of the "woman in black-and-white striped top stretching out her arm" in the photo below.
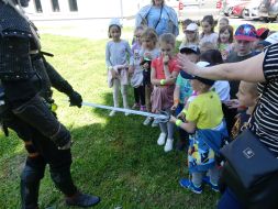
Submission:
{"label": "woman in black-and-white striped top stretching out her arm", "polygon": [[[202,69],[179,55],[178,65],[189,74],[210,78],[259,82],[262,98],[253,113],[248,129],[260,142],[278,156],[278,44],[270,45],[252,58],[240,63],[222,64]],[[264,89],[264,90],[262,90]],[[259,166],[259,165],[258,165]],[[278,201],[277,201],[278,204]],[[235,195],[227,188],[222,196],[219,208],[243,208]]]}

